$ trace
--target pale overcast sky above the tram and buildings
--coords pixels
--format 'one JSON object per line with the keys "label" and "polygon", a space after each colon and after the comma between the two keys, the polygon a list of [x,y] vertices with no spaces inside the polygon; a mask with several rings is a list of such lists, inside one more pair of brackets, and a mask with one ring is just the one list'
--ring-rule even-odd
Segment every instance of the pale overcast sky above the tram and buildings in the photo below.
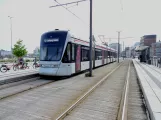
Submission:
{"label": "pale overcast sky above the tram and buildings", "polygon": [[[57,0],[67,3],[78,0]],[[0,0],[0,49],[11,49],[10,19],[12,16],[13,45],[22,39],[29,53],[39,46],[44,32],[54,29],[70,30],[78,38],[89,40],[89,1],[78,5],[49,8],[56,5],[55,0]],[[93,34],[105,38],[120,39],[125,46],[131,46],[147,34],[161,36],[160,0],[93,0]],[[106,39],[117,42],[117,39]]]}

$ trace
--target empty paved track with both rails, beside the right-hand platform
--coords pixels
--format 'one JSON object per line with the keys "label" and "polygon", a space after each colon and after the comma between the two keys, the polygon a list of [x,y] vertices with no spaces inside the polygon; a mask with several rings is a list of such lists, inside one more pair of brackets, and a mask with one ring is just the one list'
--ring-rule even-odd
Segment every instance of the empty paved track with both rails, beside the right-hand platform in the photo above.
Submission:
{"label": "empty paved track with both rails, beside the right-hand platform", "polygon": [[116,67],[54,120],[147,120],[131,61]]}

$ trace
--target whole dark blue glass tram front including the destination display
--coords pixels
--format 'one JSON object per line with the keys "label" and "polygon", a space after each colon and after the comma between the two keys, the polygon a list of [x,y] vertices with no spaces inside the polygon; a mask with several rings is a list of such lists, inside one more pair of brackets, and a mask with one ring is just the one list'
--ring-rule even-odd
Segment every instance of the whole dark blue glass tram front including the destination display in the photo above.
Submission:
{"label": "whole dark blue glass tram front including the destination display", "polygon": [[41,37],[40,60],[59,61],[63,54],[67,32],[52,31],[47,32]]}

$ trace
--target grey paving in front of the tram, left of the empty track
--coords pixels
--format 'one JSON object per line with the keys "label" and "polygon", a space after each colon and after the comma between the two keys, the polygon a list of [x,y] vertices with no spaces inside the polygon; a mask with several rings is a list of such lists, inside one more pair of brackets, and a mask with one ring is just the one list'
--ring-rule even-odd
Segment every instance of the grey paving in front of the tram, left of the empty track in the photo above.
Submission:
{"label": "grey paving in front of the tram, left of the empty track", "polygon": [[[80,74],[3,98],[0,100],[0,120],[52,120],[118,65],[114,63],[95,69],[94,77]],[[36,81],[40,83],[39,79]],[[0,91],[3,90],[3,95],[6,95],[5,91],[19,91],[18,88],[32,85],[27,83],[13,85],[13,87],[6,87],[8,90],[5,88]]]}

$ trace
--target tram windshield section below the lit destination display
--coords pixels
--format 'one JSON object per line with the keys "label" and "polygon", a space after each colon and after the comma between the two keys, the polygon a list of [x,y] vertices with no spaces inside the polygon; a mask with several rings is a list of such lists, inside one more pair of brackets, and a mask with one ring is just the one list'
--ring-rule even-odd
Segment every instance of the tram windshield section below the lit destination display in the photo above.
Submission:
{"label": "tram windshield section below the lit destination display", "polygon": [[63,47],[47,46],[41,48],[41,61],[58,61],[61,58]]}

